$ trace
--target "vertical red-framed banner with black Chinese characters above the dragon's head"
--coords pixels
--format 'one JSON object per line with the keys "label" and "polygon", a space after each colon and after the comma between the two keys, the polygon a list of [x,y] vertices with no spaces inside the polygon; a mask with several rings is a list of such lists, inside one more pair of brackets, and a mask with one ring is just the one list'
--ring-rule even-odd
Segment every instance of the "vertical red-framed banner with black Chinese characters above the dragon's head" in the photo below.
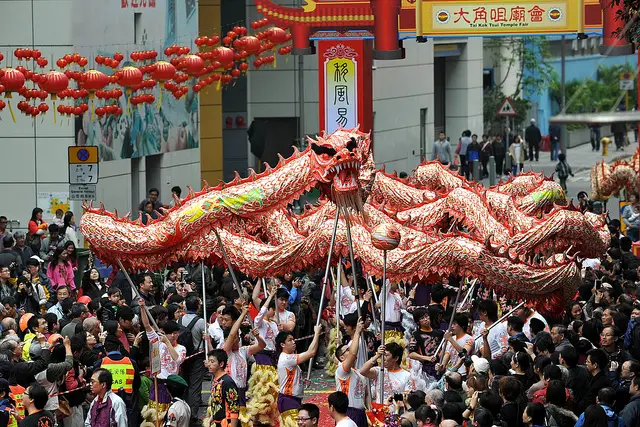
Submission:
{"label": "vertical red-framed banner with black Chinese characters above the dragon's head", "polygon": [[318,41],[321,131],[372,130],[372,50],[372,40]]}

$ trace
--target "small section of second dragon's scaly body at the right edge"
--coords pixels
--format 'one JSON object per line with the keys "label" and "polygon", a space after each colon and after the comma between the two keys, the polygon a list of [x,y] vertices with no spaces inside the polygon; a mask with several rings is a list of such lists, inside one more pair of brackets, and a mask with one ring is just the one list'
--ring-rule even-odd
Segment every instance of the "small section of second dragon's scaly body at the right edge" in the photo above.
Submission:
{"label": "small section of second dragon's scaly body at the right edge", "polygon": [[591,199],[609,200],[623,188],[631,193],[637,193],[639,172],[639,151],[636,151],[630,159],[617,160],[611,164],[603,160],[591,168]]}

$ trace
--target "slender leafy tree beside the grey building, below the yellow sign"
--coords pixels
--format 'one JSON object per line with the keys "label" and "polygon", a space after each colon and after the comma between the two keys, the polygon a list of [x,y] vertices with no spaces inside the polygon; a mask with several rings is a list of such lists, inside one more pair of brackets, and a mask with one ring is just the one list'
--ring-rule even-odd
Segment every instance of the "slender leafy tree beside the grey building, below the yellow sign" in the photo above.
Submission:
{"label": "slender leafy tree beside the grey building, below the yellow sign", "polygon": [[[506,97],[512,99],[518,112],[514,124],[516,127],[527,119],[530,106],[527,96],[540,93],[556,78],[556,72],[548,61],[551,58],[549,43],[545,37],[496,37],[489,39],[485,46],[494,67],[501,64],[503,69],[506,68],[506,72],[500,76],[501,81],[485,91],[485,127],[491,129],[501,125],[496,111]],[[504,85],[511,73],[516,73],[517,84],[512,93],[505,93]]]}

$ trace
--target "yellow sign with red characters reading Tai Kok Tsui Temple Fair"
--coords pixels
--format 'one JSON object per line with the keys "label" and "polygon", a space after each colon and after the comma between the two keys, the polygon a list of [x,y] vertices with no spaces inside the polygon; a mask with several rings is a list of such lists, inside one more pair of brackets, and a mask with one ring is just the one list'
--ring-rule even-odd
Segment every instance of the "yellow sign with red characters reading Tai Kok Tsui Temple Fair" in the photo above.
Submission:
{"label": "yellow sign with red characters reading Tai Kok Tsui Temple Fair", "polygon": [[417,33],[423,36],[565,34],[582,32],[580,0],[455,3],[418,0]]}

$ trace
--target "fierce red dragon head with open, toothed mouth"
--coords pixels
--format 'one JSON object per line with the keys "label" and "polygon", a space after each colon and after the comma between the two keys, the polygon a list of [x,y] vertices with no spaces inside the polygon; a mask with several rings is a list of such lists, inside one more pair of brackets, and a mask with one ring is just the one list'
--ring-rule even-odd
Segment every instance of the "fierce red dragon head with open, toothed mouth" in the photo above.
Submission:
{"label": "fierce red dragon head with open, toothed mouth", "polygon": [[[311,147],[311,170],[324,192],[334,202],[361,210],[360,169],[369,158],[369,134],[358,128],[324,132],[317,139],[307,137]],[[329,190],[329,191],[326,191]]]}

